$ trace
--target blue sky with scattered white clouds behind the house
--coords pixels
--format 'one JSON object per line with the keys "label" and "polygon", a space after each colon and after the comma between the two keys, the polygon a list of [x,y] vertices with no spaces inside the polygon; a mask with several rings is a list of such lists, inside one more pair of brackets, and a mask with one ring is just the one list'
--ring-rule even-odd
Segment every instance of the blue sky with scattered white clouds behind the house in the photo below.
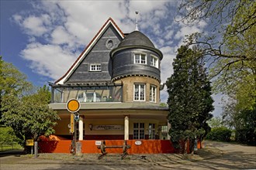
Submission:
{"label": "blue sky with scattered white clouds behind the house", "polygon": [[[67,72],[88,42],[111,17],[123,32],[135,29],[139,11],[140,32],[164,54],[161,80],[171,73],[172,60],[185,35],[206,31],[207,22],[186,26],[176,22],[175,1],[14,1],[1,0],[0,55],[36,86],[54,82]],[[168,97],[161,92],[161,100]],[[220,114],[220,95],[215,95]]]}

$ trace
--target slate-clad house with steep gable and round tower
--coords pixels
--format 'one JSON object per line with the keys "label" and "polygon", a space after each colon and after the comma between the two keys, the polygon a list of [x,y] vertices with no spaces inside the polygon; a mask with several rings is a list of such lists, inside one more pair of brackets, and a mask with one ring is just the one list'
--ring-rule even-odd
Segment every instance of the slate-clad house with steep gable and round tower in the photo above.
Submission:
{"label": "slate-clad house with steep gable and round tower", "polygon": [[168,107],[160,106],[163,54],[142,32],[124,34],[109,18],[71,68],[50,84],[61,121],[56,136],[71,140],[67,101],[80,101],[77,139],[164,140]]}

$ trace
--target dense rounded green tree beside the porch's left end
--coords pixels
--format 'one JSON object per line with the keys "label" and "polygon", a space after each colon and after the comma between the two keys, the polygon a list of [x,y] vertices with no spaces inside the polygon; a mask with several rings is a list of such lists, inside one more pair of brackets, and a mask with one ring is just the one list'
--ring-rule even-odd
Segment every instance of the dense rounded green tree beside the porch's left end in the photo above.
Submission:
{"label": "dense rounded green tree beside the porch's left end", "polygon": [[40,135],[54,133],[56,121],[60,118],[48,107],[49,90],[40,88],[37,93],[22,97],[5,97],[3,100],[2,121],[11,127],[24,144],[26,139],[37,140]]}

